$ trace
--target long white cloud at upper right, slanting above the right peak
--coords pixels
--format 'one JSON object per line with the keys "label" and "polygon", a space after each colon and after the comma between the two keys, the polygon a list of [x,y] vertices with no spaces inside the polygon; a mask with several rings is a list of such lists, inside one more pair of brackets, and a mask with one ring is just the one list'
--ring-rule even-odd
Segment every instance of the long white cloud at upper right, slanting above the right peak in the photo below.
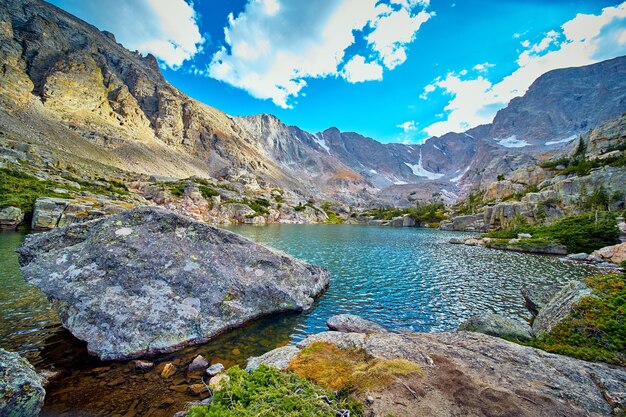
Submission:
{"label": "long white cloud at upper right, slanting above the right peak", "polygon": [[[445,120],[423,129],[429,136],[462,132],[493,120],[514,97],[523,95],[542,74],[557,68],[588,65],[626,54],[626,2],[602,9],[599,15],[578,14],[539,42],[528,43],[518,57],[518,69],[497,83],[483,75],[467,78],[448,73],[424,88],[422,98],[436,89],[452,96]],[[474,67],[476,69],[476,67]]]}

